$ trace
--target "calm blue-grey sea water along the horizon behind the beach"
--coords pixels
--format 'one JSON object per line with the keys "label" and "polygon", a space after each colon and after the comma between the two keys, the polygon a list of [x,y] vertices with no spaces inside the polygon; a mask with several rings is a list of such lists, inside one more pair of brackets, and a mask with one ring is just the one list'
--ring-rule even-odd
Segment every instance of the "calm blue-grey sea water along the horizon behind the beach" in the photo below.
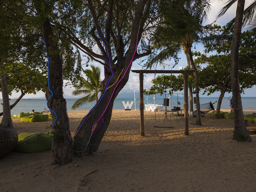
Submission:
{"label": "calm blue-grey sea water along the horizon behind the beach", "polygon": [[[148,100],[146,100],[146,98],[144,98],[144,104],[159,104],[162,105],[164,102],[164,96],[160,97],[160,98],[156,98],[156,100],[153,100],[153,97],[148,97]],[[114,110],[124,110],[125,107],[123,105],[123,102],[125,102],[125,104],[127,103],[127,101],[129,102],[129,104],[131,104],[131,102],[133,102],[133,104],[131,105],[131,110],[139,110],[139,106],[140,106],[140,98],[136,98],[136,100],[134,100],[134,98],[116,98],[115,102],[114,102]],[[67,110],[71,111],[71,106],[73,105],[74,101],[76,101],[76,99],[66,99],[67,101]],[[204,104],[204,103],[209,103],[209,102],[214,103],[215,101],[218,101],[217,97],[201,97],[200,98],[200,104]],[[15,102],[15,99],[11,99],[10,100],[10,104],[13,104]],[[171,106],[167,106],[167,109],[171,109],[173,108],[173,106],[177,106],[177,102],[180,102],[180,106],[181,108],[183,108],[184,106],[184,97],[174,97],[172,98],[172,100],[170,101]],[[256,97],[242,97],[242,106],[243,106],[243,110],[256,110]],[[3,100],[0,99],[0,103],[3,103]],[[88,103],[80,108],[78,108],[77,110],[91,110],[94,107],[95,103]],[[193,106],[194,108],[196,107],[196,105],[194,104]],[[214,104],[214,108],[216,109],[217,107],[217,102]],[[11,115],[18,115],[20,112],[31,112],[32,109],[35,110],[35,112],[40,112],[43,111],[44,109],[48,109],[47,108],[47,103],[46,103],[46,99],[22,99],[18,102],[18,104],[11,110]],[[129,106],[127,107],[127,109],[129,109]],[[144,107],[145,109],[145,107]],[[222,104],[221,104],[221,109],[230,109],[229,106],[229,100],[228,97],[224,97],[222,99]],[[2,105],[0,105],[0,112],[3,111],[3,107]]]}

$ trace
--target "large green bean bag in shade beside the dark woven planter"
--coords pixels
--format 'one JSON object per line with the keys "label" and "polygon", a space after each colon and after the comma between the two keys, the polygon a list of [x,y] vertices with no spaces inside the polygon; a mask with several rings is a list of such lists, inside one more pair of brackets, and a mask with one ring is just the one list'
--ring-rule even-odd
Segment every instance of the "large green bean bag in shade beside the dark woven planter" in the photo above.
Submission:
{"label": "large green bean bag in shade beside the dark woven planter", "polygon": [[21,133],[14,149],[16,152],[34,153],[51,149],[52,131],[47,133]]}

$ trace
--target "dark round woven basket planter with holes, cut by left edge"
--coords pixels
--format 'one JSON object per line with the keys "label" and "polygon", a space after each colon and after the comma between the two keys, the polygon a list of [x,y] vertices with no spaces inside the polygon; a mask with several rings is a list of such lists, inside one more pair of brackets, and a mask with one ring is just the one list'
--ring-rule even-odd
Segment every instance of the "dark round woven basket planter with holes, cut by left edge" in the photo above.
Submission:
{"label": "dark round woven basket planter with holes, cut by left edge", "polygon": [[18,134],[15,129],[0,129],[0,159],[13,151],[18,142]]}

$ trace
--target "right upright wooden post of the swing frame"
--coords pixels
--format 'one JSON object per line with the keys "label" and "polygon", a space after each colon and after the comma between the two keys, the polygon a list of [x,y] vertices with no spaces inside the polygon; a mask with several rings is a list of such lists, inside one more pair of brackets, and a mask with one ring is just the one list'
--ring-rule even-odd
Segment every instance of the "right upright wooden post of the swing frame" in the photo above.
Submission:
{"label": "right upright wooden post of the swing frame", "polygon": [[184,135],[188,135],[188,72],[184,70]]}

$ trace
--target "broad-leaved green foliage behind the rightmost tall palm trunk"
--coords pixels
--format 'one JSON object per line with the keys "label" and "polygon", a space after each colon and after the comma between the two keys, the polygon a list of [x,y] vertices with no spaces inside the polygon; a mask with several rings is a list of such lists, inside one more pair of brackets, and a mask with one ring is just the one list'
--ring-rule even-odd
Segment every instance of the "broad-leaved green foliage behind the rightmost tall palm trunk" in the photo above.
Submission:
{"label": "broad-leaved green foliage behind the rightmost tall palm trunk", "polygon": [[[213,28],[213,27],[212,27]],[[215,26],[219,29],[219,26]],[[225,29],[225,27],[223,27]],[[251,88],[256,84],[255,64],[253,65],[252,59],[247,58],[246,55],[255,55],[255,32],[245,31],[241,34],[240,44],[240,70],[239,70],[239,82],[240,91],[244,92],[244,89]],[[205,53],[216,51],[217,54],[207,56],[200,52],[195,52],[195,63],[198,65],[207,65],[202,68],[199,74],[199,86],[205,89],[203,94],[210,95],[216,91],[224,91],[230,93],[231,89],[231,77],[230,77],[230,65],[231,65],[231,44],[206,44]],[[242,59],[243,58],[243,59]],[[224,96],[224,95],[223,95]]]}

